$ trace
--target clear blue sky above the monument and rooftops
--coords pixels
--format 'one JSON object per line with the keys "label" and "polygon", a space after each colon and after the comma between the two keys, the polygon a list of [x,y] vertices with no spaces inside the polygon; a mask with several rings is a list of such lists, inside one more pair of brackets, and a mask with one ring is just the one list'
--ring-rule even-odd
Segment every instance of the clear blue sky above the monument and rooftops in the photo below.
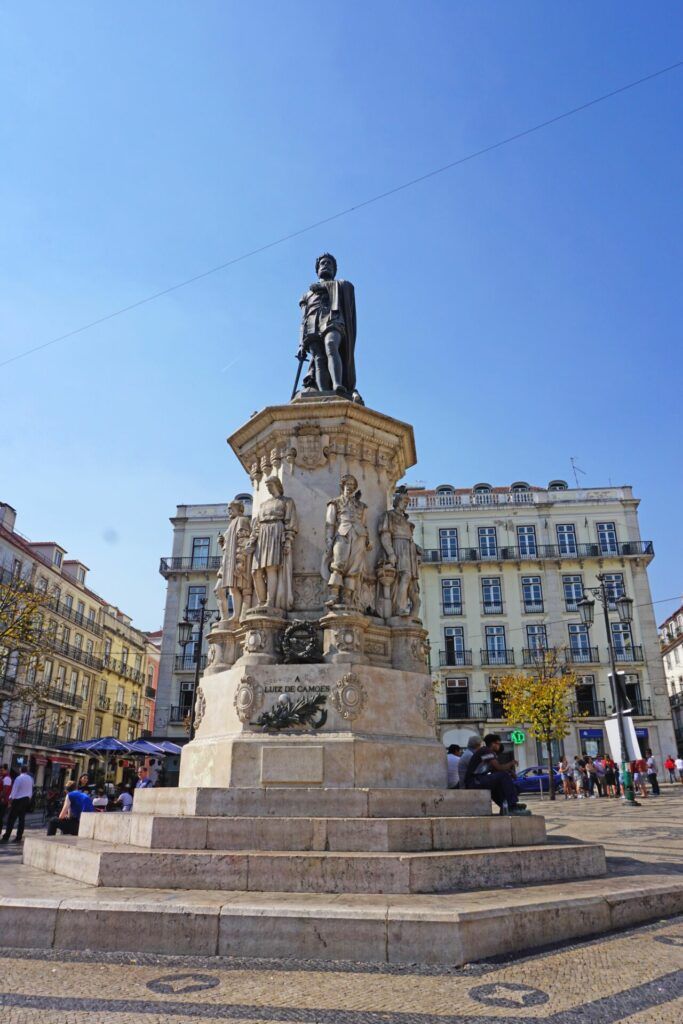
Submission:
{"label": "clear blue sky above the monument and rooftops", "polygon": [[[674,2],[0,4],[0,358],[683,57]],[[0,500],[141,628],[314,257],[430,485],[632,483],[683,589],[683,69],[0,369]],[[657,605],[657,618],[673,610]]]}

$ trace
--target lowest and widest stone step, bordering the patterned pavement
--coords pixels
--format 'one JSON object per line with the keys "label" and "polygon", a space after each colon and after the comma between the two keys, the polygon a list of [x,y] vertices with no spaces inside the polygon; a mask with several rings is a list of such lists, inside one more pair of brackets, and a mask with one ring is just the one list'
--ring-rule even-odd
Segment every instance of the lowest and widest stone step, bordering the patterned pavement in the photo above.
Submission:
{"label": "lowest and widest stone step, bordering the patterned pavement", "polygon": [[0,943],[196,956],[459,967],[683,912],[683,880],[608,876],[438,896],[93,889],[0,872]]}

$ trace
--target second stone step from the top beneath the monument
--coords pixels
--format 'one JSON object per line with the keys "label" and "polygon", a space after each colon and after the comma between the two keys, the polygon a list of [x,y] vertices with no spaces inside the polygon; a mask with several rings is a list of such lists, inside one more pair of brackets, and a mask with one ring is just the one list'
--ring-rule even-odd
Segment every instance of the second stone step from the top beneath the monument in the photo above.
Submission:
{"label": "second stone step from the top beneath the monument", "polygon": [[166,850],[329,850],[395,853],[532,846],[545,819],[500,817],[285,818],[84,814],[81,839]]}

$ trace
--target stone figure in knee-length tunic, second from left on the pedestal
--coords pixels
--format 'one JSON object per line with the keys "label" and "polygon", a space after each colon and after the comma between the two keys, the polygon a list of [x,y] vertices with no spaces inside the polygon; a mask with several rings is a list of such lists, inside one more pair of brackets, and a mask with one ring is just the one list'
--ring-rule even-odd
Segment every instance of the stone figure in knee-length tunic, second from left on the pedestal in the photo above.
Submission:
{"label": "stone figure in knee-length tunic, second from left on the pedestal", "polygon": [[289,611],[293,605],[292,541],[297,529],[296,507],[276,476],[265,481],[270,498],[252,519],[247,551],[253,555],[254,611]]}

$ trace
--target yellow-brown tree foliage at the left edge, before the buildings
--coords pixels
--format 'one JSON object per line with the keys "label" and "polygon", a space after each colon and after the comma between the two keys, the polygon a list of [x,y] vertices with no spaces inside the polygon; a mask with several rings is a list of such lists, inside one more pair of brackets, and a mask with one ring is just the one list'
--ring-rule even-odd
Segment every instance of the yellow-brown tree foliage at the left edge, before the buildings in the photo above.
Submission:
{"label": "yellow-brown tree foliage at the left edge, before the buildings", "polygon": [[12,700],[0,710],[0,728],[9,725],[14,703],[38,705],[46,684],[39,680],[41,656],[50,649],[43,629],[43,608],[51,600],[47,590],[35,586],[33,577],[0,569],[0,682],[12,687]]}

